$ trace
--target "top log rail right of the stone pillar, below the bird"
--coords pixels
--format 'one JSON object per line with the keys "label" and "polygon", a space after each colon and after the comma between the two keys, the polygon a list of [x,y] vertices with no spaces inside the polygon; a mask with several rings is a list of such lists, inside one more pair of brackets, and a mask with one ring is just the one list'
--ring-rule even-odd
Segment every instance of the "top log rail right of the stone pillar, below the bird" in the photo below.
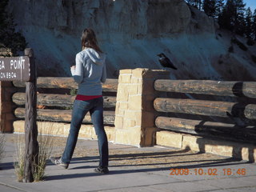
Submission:
{"label": "top log rail right of the stone pillar, below the bird", "polygon": [[186,94],[210,94],[256,98],[255,82],[158,79],[154,82],[154,89],[158,91]]}

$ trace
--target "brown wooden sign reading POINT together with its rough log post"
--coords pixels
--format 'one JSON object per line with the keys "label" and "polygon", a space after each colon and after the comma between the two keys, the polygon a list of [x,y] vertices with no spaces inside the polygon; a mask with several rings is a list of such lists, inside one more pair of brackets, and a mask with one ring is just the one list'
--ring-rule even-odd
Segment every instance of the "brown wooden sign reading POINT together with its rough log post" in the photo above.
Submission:
{"label": "brown wooden sign reading POINT together with its rough log post", "polygon": [[26,48],[25,56],[0,58],[0,81],[26,82],[24,182],[34,181],[38,165],[37,74],[33,50]]}

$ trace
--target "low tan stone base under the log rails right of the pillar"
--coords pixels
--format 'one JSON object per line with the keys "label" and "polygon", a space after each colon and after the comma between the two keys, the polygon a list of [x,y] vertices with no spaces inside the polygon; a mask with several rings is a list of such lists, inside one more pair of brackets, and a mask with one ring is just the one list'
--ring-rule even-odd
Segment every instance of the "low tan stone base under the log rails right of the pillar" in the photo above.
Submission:
{"label": "low tan stone base under the log rails right of the pillar", "polygon": [[218,154],[249,162],[256,162],[256,146],[241,142],[218,141],[190,134],[178,134],[172,131],[158,131],[157,145],[179,149],[190,149],[198,152]]}

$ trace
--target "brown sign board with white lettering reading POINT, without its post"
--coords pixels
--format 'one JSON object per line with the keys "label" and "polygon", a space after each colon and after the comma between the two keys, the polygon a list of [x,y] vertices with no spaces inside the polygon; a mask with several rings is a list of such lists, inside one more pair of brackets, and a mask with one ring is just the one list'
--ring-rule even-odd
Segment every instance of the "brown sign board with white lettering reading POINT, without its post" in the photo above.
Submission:
{"label": "brown sign board with white lettering reading POINT, without its post", "polygon": [[30,58],[0,58],[0,81],[30,81]]}

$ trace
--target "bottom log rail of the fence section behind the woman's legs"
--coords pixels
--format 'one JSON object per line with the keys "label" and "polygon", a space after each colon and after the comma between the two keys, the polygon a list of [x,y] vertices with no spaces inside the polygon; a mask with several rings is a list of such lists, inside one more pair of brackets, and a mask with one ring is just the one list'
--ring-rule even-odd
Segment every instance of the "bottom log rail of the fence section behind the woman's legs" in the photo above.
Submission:
{"label": "bottom log rail of the fence section behind the woman's legs", "polygon": [[[38,120],[49,121],[49,122],[71,122],[72,110],[38,110]],[[17,108],[14,111],[17,118],[25,117],[25,109]],[[104,111],[103,114],[104,124],[114,125],[114,111]],[[83,119],[84,123],[92,123],[90,119],[90,114],[86,114]]]}

